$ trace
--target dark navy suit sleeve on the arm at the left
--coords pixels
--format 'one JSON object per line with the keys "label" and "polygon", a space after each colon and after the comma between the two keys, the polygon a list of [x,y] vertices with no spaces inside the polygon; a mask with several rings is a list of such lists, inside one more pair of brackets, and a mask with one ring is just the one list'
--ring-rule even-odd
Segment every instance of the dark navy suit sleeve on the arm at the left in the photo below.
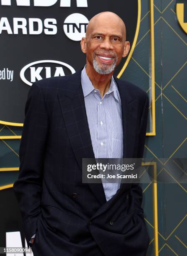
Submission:
{"label": "dark navy suit sleeve on the arm at the left", "polygon": [[41,212],[43,159],[48,133],[48,113],[42,89],[34,83],[28,93],[19,151],[20,171],[13,185],[28,245],[31,236],[37,231],[37,220]]}

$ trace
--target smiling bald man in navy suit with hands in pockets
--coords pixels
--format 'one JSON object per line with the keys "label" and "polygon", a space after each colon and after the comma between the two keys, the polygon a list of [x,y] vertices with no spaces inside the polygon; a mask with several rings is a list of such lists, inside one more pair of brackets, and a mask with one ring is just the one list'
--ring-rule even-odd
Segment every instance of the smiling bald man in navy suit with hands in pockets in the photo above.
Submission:
{"label": "smiling bald man in navy suit with hands in pockets", "polygon": [[81,40],[86,67],[29,91],[14,191],[35,256],[146,255],[139,185],[83,184],[81,172],[83,158],[143,156],[147,94],[113,77],[129,48],[121,18],[99,13]]}

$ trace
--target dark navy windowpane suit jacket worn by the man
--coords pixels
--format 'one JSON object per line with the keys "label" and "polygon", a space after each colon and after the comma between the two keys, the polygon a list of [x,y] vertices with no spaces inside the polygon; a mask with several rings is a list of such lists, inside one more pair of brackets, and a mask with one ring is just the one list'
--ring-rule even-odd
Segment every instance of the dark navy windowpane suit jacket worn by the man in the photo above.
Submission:
{"label": "dark navy windowpane suit jacket worn by the man", "polygon": [[[147,93],[114,77],[124,158],[142,158]],[[82,158],[94,158],[81,71],[33,83],[25,105],[20,172],[13,189],[35,256],[144,256],[149,244],[142,189],[121,184],[106,201],[102,184],[82,183]]]}

